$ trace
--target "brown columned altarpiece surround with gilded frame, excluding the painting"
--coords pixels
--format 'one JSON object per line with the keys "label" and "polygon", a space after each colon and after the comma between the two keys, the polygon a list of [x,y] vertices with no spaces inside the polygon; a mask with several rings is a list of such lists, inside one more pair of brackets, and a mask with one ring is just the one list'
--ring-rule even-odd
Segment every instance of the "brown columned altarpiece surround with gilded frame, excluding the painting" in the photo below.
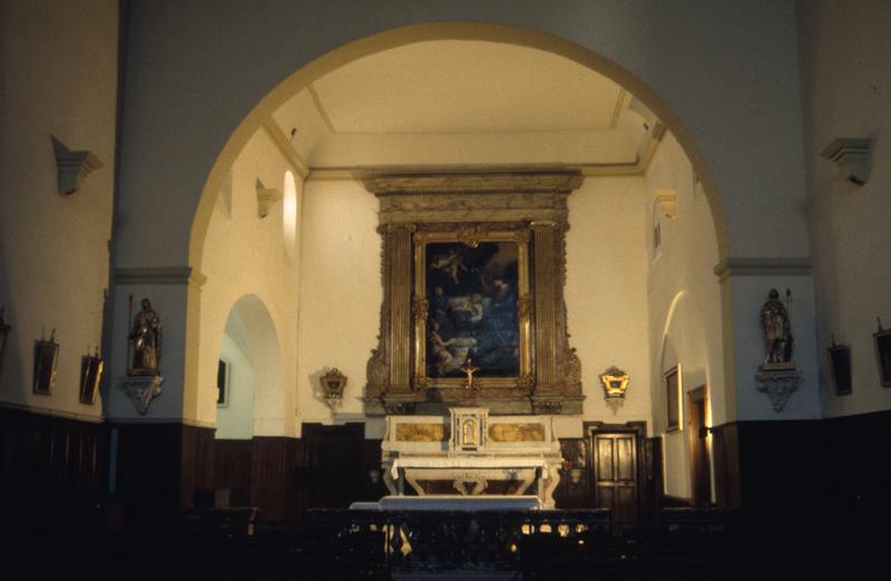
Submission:
{"label": "brown columned altarpiece surround with gilded frame, excluding the painting", "polygon": [[[361,179],[380,201],[383,283],[381,331],[366,367],[365,413],[441,413],[454,405],[486,406],[497,415],[581,413],[581,365],[569,346],[564,285],[567,197],[582,177],[555,169],[369,175]],[[510,316],[511,325],[503,328],[517,333],[519,361],[490,367],[488,375],[481,372],[482,376],[473,377],[472,388],[467,388],[471,382],[461,377],[456,366],[462,357],[460,351],[451,353],[448,371],[428,374],[428,325],[433,324],[428,319],[429,301],[435,288],[428,288],[425,252],[431,244],[440,245],[431,252],[450,253],[460,248],[459,243],[476,248],[490,242],[517,244],[516,284],[509,285],[517,295],[517,316]],[[481,254],[484,252],[482,248]],[[435,259],[431,254],[431,266]],[[497,278],[492,275],[490,282]],[[434,280],[431,285],[437,285]],[[467,287],[461,293],[467,295]],[[512,326],[515,321],[519,327]],[[430,341],[432,348],[433,338]]]}

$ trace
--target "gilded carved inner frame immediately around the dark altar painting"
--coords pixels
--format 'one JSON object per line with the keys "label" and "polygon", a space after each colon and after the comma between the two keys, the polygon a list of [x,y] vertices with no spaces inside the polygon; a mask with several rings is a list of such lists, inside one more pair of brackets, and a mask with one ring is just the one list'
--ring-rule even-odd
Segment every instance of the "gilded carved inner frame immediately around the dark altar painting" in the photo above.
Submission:
{"label": "gilded carved inner frame immediately around the dark altar painting", "polygon": [[[500,228],[499,228],[500,227]],[[491,228],[491,229],[490,229]],[[480,390],[486,388],[527,388],[532,374],[532,319],[530,293],[530,259],[529,240],[531,233],[528,228],[520,227],[513,230],[502,229],[503,225],[464,225],[446,232],[415,232],[414,233],[414,377],[415,384],[422,388],[463,390],[466,380],[458,377],[429,377],[427,373],[427,335],[428,313],[430,305],[427,299],[427,249],[434,243],[463,243],[466,246],[476,247],[480,243],[508,242],[517,245],[518,266],[518,297],[517,319],[519,323],[519,374],[516,377],[480,377],[474,378],[474,385]]]}

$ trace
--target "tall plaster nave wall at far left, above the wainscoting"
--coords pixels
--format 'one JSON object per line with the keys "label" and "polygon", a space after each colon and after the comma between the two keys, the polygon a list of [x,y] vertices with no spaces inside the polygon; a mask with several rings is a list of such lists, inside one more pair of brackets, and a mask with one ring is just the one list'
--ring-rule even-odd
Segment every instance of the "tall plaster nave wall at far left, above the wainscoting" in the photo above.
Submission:
{"label": "tall plaster nave wall at far left, above the wainscoting", "polygon": [[[12,325],[0,402],[86,418],[81,357],[101,341],[115,165],[118,3],[0,2],[0,308]],[[50,135],[104,164],[58,191]],[[60,344],[51,396],[31,393],[35,342]]]}

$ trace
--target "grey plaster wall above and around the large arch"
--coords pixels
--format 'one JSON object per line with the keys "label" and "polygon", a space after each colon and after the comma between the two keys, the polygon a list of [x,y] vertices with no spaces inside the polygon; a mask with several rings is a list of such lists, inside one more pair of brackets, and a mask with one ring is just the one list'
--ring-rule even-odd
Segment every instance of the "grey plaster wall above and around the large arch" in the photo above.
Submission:
{"label": "grey plaster wall above and around the large arch", "polygon": [[[187,263],[214,160],[274,87],[334,48],[418,22],[512,24],[611,59],[689,130],[734,255],[809,254],[792,2],[134,2],[131,22],[120,266]],[[149,253],[143,240],[160,224],[169,235]]]}

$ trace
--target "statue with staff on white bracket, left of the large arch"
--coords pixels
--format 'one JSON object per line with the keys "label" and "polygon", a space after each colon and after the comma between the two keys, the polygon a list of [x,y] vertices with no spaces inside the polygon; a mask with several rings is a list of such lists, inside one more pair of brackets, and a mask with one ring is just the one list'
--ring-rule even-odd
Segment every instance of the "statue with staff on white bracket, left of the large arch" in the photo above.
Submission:
{"label": "statue with staff on white bracket, left of the large arch", "polygon": [[129,298],[129,321],[133,321],[127,336],[127,377],[121,387],[136,406],[139,415],[146,415],[151,401],[160,395],[164,377],[160,375],[160,317],[151,308],[151,302],[143,298],[141,309],[134,316],[133,295]]}

